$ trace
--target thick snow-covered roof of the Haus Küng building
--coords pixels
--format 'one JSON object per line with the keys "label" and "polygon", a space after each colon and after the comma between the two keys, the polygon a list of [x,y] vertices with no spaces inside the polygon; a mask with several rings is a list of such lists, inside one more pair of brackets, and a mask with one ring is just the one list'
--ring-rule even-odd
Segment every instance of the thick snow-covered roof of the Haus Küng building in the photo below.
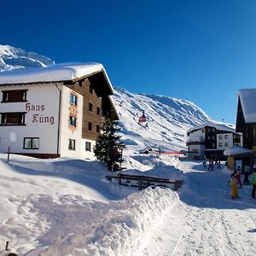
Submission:
{"label": "thick snow-covered roof of the Haus K\u00fcng building", "polygon": [[102,72],[108,80],[110,88],[113,86],[108,79],[104,67],[100,63],[61,63],[48,67],[20,68],[0,73],[0,84],[27,84],[37,82],[58,82],[79,79],[92,73]]}

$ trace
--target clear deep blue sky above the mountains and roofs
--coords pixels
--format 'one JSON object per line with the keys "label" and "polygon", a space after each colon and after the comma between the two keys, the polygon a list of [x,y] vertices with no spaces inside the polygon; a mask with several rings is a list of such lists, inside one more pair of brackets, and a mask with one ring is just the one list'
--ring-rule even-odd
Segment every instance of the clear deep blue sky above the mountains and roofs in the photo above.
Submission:
{"label": "clear deep blue sky above the mountains and roofs", "polygon": [[256,1],[2,0],[0,21],[0,44],[101,62],[114,86],[212,119],[235,123],[237,90],[256,88]]}

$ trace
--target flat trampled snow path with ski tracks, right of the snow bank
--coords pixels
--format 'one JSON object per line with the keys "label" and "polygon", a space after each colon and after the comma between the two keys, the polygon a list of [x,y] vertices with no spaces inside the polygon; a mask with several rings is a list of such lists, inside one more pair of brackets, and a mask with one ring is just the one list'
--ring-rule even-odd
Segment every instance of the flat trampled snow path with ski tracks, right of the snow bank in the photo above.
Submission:
{"label": "flat trampled snow path with ski tracks, right of the snow bank", "polygon": [[[238,201],[226,199],[225,194],[230,188],[225,188],[225,185],[218,187],[216,184],[216,195],[213,196],[207,189],[208,185],[206,191],[200,187],[200,181],[198,186],[197,193],[198,196],[204,195],[203,201],[194,205],[181,200],[169,207],[161,221],[148,230],[137,255],[256,255],[256,209],[253,202],[246,198]],[[247,190],[243,193],[245,195]],[[191,202],[193,200],[196,198]]]}

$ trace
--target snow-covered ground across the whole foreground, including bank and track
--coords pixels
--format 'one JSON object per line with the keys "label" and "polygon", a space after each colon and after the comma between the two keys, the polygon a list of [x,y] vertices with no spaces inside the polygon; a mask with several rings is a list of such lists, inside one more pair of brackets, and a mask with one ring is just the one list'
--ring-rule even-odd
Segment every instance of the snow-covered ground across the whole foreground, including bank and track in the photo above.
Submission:
{"label": "snow-covered ground across the whole foreground, including bank and track", "polygon": [[[230,171],[166,155],[126,157],[131,170],[182,178],[178,192],[110,183],[90,160],[0,155],[0,245],[19,255],[255,255],[250,187],[231,200]],[[127,172],[127,171],[125,171]],[[4,255],[4,252],[2,252]]]}

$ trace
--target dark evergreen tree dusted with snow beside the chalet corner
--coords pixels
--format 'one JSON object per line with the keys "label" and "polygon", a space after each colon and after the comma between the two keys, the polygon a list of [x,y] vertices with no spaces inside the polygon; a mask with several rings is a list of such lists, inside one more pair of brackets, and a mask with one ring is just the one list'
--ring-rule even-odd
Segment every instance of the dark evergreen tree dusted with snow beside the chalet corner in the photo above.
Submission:
{"label": "dark evergreen tree dusted with snow beside the chalet corner", "polygon": [[93,152],[97,160],[103,161],[108,166],[108,170],[112,170],[112,167],[116,170],[121,160],[121,151],[125,148],[125,143],[119,142],[120,136],[116,135],[116,131],[119,131],[119,128],[115,120],[107,119],[101,130],[101,135],[96,139]]}

